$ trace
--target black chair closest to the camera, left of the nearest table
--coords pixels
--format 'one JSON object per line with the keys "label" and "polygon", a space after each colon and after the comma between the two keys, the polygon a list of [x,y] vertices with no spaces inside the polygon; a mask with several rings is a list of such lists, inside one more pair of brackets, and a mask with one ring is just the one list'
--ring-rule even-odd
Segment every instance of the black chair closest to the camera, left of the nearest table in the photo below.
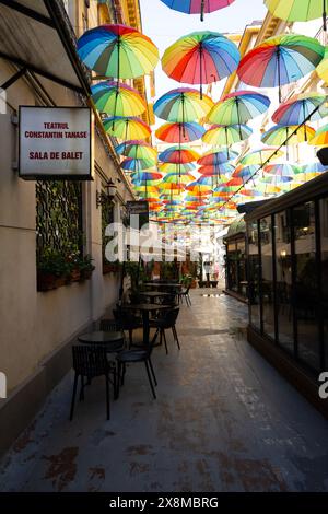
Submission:
{"label": "black chair closest to the camera, left of the nearest table", "polygon": [[[104,347],[95,347],[87,344],[79,344],[72,347],[73,354],[73,370],[75,372],[73,394],[71,401],[70,421],[73,419],[74,404],[77,396],[77,388],[79,376],[81,377],[81,392],[80,400],[84,400],[84,378],[90,384],[92,378],[96,376],[105,376],[106,383],[106,414],[107,420],[110,417],[109,412],[109,373],[114,374],[114,384],[117,384],[116,379],[116,366],[113,366],[107,360],[106,349]],[[116,386],[115,386],[116,388]],[[115,392],[115,396],[117,394]]]}

